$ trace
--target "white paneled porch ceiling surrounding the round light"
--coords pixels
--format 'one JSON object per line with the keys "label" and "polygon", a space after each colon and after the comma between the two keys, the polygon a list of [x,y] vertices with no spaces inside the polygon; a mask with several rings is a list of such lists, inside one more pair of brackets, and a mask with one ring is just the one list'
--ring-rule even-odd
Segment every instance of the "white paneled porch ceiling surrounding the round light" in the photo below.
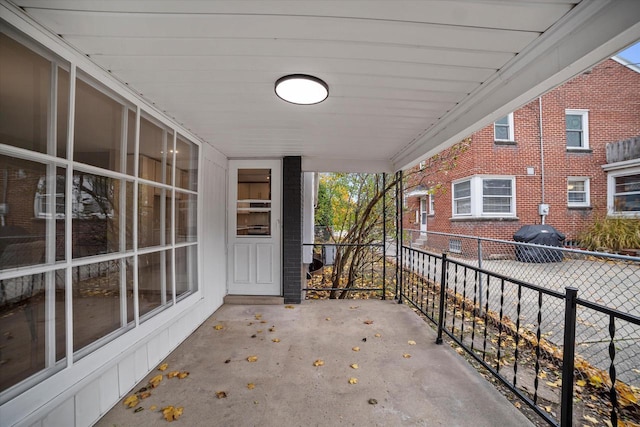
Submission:
{"label": "white paneled porch ceiling surrounding the round light", "polygon": [[[6,1],[6,0],[0,0]],[[395,171],[640,39],[637,0],[12,0],[229,158]],[[328,99],[280,100],[303,73]]]}

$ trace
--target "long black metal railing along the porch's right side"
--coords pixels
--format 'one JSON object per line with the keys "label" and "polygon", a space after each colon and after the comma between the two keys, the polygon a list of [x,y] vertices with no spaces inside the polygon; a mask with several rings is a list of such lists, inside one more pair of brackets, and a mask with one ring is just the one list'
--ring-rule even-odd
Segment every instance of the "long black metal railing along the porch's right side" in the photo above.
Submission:
{"label": "long black metal railing along the porch's right side", "polygon": [[[611,425],[638,421],[640,317],[578,298],[570,286],[546,289],[446,253],[403,246],[398,263],[396,297],[437,325],[436,342],[448,336],[550,425],[572,425],[574,397],[585,388],[606,394]],[[583,319],[598,316],[606,369],[589,363],[588,347],[576,348],[576,334],[593,329]]]}

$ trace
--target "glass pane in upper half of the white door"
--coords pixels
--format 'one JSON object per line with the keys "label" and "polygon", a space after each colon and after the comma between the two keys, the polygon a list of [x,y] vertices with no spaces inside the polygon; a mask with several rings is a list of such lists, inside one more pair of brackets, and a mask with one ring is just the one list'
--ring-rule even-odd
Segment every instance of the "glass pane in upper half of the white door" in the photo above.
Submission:
{"label": "glass pane in upper half of the white door", "polygon": [[238,169],[237,235],[271,235],[271,169]]}

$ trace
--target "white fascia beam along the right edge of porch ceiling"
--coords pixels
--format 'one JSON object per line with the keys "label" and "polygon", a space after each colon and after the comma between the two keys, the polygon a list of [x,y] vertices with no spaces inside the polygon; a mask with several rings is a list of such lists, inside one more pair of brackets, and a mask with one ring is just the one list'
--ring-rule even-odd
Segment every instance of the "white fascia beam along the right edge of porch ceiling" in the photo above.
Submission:
{"label": "white fascia beam along the right edge of porch ceiling", "polygon": [[640,39],[640,1],[583,0],[391,160],[408,169]]}

